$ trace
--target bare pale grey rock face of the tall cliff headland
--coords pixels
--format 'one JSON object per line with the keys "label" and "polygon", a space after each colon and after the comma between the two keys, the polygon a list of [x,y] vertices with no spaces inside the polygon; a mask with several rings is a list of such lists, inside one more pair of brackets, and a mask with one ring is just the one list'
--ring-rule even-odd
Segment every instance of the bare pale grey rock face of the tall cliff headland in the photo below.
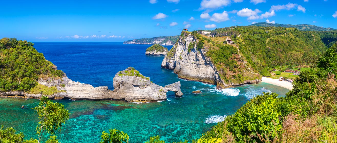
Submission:
{"label": "bare pale grey rock face of the tall cliff headland", "polygon": [[[188,45],[193,44],[193,48],[188,51]],[[178,42],[172,47],[173,53],[167,54],[161,67],[174,70],[179,78],[193,81],[200,81],[208,84],[223,85],[215,66],[206,57],[204,49],[196,50],[197,40],[193,35],[180,37]]]}

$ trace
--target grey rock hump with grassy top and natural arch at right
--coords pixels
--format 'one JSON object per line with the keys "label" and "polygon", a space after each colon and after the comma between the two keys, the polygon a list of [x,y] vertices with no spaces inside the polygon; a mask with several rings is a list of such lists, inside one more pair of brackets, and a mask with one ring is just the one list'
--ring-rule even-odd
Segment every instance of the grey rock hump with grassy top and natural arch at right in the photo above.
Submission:
{"label": "grey rock hump with grassy top and natural arch at right", "polygon": [[166,92],[174,91],[177,97],[183,94],[180,82],[165,87],[156,85],[132,67],[118,72],[114,78],[112,99],[126,101],[159,101],[166,99]]}

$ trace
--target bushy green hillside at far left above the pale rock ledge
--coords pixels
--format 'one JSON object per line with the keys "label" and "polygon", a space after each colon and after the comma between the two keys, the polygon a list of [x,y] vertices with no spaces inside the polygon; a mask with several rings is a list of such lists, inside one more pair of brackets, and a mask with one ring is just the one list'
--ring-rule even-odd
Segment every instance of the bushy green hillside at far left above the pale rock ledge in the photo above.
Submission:
{"label": "bushy green hillside at far left above the pale rock ledge", "polygon": [[0,92],[30,91],[39,78],[62,77],[63,72],[33,46],[16,38],[0,40]]}

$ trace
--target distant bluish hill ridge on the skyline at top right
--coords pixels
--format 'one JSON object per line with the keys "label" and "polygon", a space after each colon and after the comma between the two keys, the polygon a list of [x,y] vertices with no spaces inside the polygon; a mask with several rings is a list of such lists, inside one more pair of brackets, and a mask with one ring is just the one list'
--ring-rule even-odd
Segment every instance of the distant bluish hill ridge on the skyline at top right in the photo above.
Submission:
{"label": "distant bluish hill ridge on the skyline at top right", "polygon": [[285,27],[285,28],[297,28],[300,31],[330,31],[330,30],[336,30],[333,28],[323,28],[318,27],[314,25],[308,25],[308,24],[299,24],[299,25],[291,25],[291,24],[279,24],[279,23],[267,23],[267,22],[258,22],[254,23],[249,26],[262,26],[262,27]]}

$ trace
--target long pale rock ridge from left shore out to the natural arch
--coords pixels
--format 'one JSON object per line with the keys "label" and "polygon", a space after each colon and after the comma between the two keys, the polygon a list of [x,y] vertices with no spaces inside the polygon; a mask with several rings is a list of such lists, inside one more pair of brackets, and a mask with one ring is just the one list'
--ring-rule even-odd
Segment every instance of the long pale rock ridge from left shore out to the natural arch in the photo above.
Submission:
{"label": "long pale rock ridge from left shore out to the natural arch", "polygon": [[[90,84],[83,84],[70,80],[65,74],[62,79],[39,79],[39,84],[51,87],[55,86],[59,91],[53,95],[47,95],[52,99],[89,99],[89,100],[125,100],[136,102],[150,102],[166,99],[166,92],[174,91],[177,97],[183,93],[180,90],[180,82],[176,82],[165,87],[156,85],[132,67],[119,71],[114,79],[114,90],[107,86],[93,87]],[[4,97],[40,98],[42,94],[29,94],[26,92],[1,92]],[[45,95],[46,96],[46,95]]]}

